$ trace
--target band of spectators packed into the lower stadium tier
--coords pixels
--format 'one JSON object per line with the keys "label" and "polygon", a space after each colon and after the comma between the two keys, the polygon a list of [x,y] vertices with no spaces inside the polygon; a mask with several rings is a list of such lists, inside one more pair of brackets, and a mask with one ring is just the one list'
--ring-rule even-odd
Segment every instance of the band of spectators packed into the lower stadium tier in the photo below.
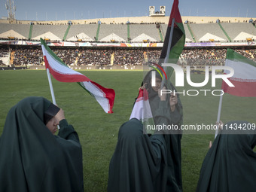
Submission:
{"label": "band of spectators packed into the lower stadium tier", "polygon": [[[9,51],[7,48],[0,48],[0,59],[7,51]],[[256,62],[256,49],[235,49],[235,51]],[[15,66],[42,65],[43,63],[41,47],[11,48],[11,52],[14,52],[13,64]],[[53,52],[68,66],[104,66],[110,64],[114,66],[134,66],[143,65],[147,60],[158,62],[161,50],[53,48]],[[226,49],[185,48],[181,53],[178,64],[183,66],[224,65],[226,52]]]}

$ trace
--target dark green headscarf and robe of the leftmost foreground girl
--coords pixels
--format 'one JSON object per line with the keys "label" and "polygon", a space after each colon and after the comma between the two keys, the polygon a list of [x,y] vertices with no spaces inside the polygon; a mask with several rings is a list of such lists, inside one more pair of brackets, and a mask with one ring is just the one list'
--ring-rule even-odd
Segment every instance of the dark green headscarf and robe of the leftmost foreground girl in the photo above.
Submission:
{"label": "dark green headscarf and robe of the leftmost foreground girl", "polygon": [[50,105],[27,97],[8,112],[0,137],[0,191],[83,191],[81,145],[50,133],[44,120]]}

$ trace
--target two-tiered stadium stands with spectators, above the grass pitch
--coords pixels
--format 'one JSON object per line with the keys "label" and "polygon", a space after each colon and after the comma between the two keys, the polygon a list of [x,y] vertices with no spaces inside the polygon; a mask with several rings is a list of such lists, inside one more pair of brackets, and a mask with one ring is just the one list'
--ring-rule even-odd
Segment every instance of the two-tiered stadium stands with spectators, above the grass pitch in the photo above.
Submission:
{"label": "two-tiered stadium stands with spectators, above the grass pitch", "polygon": [[[148,17],[91,20],[0,20],[0,60],[2,66],[43,69],[40,67],[43,59],[39,42],[43,38],[67,65],[79,66],[79,69],[102,69],[101,66],[105,69],[134,69],[133,66],[141,69],[139,66],[145,59],[156,61],[163,47],[169,16],[156,12],[149,13]],[[184,51],[179,59],[181,65],[196,66],[196,69],[205,65],[198,59],[194,61],[195,54],[200,54],[200,59],[208,59],[210,63],[207,64],[223,65],[227,47],[248,58],[256,58],[255,18],[181,19],[186,35]],[[24,58],[20,52],[28,55]]]}

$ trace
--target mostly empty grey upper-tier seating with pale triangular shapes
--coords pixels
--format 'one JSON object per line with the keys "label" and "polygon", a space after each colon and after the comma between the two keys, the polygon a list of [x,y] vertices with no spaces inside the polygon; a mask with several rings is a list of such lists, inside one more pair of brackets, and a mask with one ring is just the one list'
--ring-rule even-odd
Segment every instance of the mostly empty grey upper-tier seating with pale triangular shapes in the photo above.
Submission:
{"label": "mostly empty grey upper-tier seating with pale triangular shapes", "polygon": [[[188,26],[189,25],[189,26]],[[190,30],[189,28],[190,27]],[[222,29],[221,29],[222,27]],[[96,41],[98,24],[71,25],[34,25],[29,36],[29,24],[7,24],[0,23],[0,38],[15,38],[39,40],[48,38],[50,41]],[[127,32],[126,24],[101,24],[99,28],[98,41],[101,42],[160,42],[160,32],[156,24],[130,24],[130,34]],[[160,24],[160,31],[165,37],[167,24]],[[246,41],[246,38],[256,39],[256,28],[252,23],[187,23],[184,24],[186,42],[227,42]],[[67,32],[67,33],[66,33]],[[226,34],[225,34],[226,32]],[[194,39],[192,37],[194,35]]]}

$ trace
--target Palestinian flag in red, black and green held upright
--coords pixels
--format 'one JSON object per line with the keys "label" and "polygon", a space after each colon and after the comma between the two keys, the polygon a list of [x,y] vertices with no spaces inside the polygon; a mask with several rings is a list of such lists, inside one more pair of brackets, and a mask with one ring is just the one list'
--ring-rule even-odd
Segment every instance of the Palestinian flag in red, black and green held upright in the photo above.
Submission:
{"label": "Palestinian flag in red, black and green held upright", "polygon": [[[172,29],[172,19],[174,18],[174,28]],[[172,35],[172,37],[170,37]],[[170,44],[170,38],[172,43]],[[178,10],[178,0],[174,0],[172,5],[172,11],[169,17],[169,23],[166,30],[166,37],[163,42],[162,52],[160,54],[159,64],[166,63],[177,63],[178,58],[181,55],[185,43],[185,32],[184,26],[181,20],[181,14]],[[170,67],[169,67],[170,68]],[[168,78],[171,77],[173,69],[166,72]]]}

